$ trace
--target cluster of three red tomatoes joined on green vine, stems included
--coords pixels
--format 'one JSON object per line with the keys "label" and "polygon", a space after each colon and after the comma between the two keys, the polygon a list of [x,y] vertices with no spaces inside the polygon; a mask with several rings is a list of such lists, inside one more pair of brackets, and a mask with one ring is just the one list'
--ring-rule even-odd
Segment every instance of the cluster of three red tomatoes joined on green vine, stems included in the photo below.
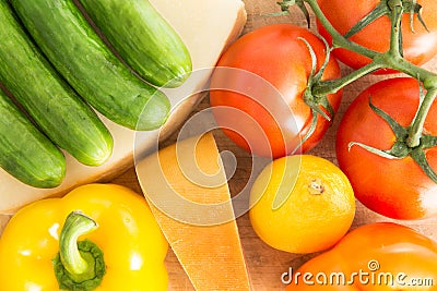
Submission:
{"label": "cluster of three red tomatoes joined on green vine, stems included", "polygon": [[[358,3],[359,2],[359,3]],[[340,107],[343,87],[385,75],[349,106],[336,133],[336,158],[355,196],[394,219],[437,216],[437,73],[423,64],[437,53],[433,0],[283,0],[317,31],[276,24],[246,34],[222,56],[213,75],[214,117],[243,148],[272,158],[315,147]],[[342,76],[338,60],[351,66]],[[248,73],[275,88],[265,89]],[[403,73],[404,76],[392,73]],[[347,89],[347,88],[345,88]],[[249,94],[244,94],[249,92]],[[213,111],[214,112],[214,111]],[[253,125],[256,124],[256,126]]]}

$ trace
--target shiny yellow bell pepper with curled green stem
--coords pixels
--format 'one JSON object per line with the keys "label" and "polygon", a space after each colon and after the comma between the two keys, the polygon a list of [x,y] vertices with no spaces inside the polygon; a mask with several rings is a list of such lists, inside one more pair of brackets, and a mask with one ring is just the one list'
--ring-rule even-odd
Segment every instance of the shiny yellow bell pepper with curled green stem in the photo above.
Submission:
{"label": "shiny yellow bell pepper with curled green stem", "polygon": [[88,184],[12,217],[0,238],[0,290],[167,290],[167,248],[143,197]]}

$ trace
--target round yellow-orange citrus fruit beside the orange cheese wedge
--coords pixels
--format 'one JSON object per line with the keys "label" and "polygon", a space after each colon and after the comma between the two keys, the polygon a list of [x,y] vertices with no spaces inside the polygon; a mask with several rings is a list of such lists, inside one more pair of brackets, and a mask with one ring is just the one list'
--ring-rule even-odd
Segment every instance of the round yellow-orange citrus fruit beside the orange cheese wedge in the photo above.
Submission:
{"label": "round yellow-orange citrus fruit beside the orange cheese wedge", "polygon": [[312,253],[350,229],[355,197],[346,175],[327,159],[295,155],[269,163],[250,191],[250,221],[274,248]]}

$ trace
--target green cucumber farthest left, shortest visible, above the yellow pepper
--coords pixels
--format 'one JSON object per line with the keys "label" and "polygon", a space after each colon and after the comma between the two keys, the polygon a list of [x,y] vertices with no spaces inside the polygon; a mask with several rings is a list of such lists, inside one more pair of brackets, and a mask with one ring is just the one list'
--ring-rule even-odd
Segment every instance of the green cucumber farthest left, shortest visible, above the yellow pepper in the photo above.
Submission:
{"label": "green cucumber farthest left, shortest visible, above the yellow pepper", "polygon": [[66,175],[62,153],[0,88],[0,167],[34,187],[58,186]]}

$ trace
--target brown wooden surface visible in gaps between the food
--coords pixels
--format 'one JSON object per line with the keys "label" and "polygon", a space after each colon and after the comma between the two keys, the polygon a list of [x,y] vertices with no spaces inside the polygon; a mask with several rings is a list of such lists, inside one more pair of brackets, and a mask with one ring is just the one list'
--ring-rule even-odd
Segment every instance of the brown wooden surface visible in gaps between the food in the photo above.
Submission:
{"label": "brown wooden surface visible in gaps between the food", "polygon": [[[277,7],[274,0],[258,1],[258,0],[245,0],[246,9],[248,12],[248,22],[245,27],[244,33],[248,33],[257,27],[264,26],[273,23],[293,23],[300,26],[306,26],[304,17],[299,12],[294,11],[292,16],[281,16],[281,17],[268,17],[264,16],[267,13],[277,12]],[[428,68],[436,69],[437,58],[428,64]],[[346,73],[349,69],[343,66],[343,71]],[[344,90],[344,99],[342,106],[335,117],[333,125],[328,131],[327,135],[323,137],[322,142],[310,151],[312,155],[324,157],[333,162],[336,162],[335,151],[334,151],[334,141],[335,131],[339,121],[342,118],[347,105],[351,102],[354,96],[356,96],[363,88],[367,87],[369,84],[380,80],[381,76],[367,76],[358,82],[347,86]],[[209,106],[208,99],[204,99],[197,111],[200,111]],[[220,131],[215,131],[214,135],[216,137],[217,145],[221,150],[232,150],[238,161],[237,170],[234,177],[229,181],[229,189],[233,194],[238,193],[246,184],[247,178],[250,175],[250,157],[237,148],[227,137],[225,137]],[[170,144],[177,138],[177,133],[175,133],[168,141],[166,141],[163,146]],[[129,169],[123,174],[116,178],[114,183],[129,186],[138,192],[141,192],[140,185],[138,183],[135,171],[133,168]],[[369,210],[367,210],[362,205],[357,205],[356,218],[353,228],[362,226],[365,223],[374,221],[388,220],[380,217]],[[7,222],[7,219],[0,217],[0,229],[2,225]],[[302,265],[308,258],[317,255],[298,255],[288,254],[271,248],[260,241],[251,229],[249,219],[247,215],[239,217],[237,219],[239,227],[239,232],[241,237],[241,243],[244,246],[244,253],[246,256],[249,274],[251,277],[253,290],[284,290],[284,284],[281,282],[281,275],[287,271],[290,267],[296,268]],[[426,221],[412,221],[403,222],[409,225],[420,232],[427,234],[428,237],[437,240],[437,219],[426,220]],[[192,290],[191,283],[188,277],[185,275],[182,268],[180,267],[175,255],[169,251],[166,264],[169,272],[170,290]],[[229,270],[232,271],[232,270]]]}

